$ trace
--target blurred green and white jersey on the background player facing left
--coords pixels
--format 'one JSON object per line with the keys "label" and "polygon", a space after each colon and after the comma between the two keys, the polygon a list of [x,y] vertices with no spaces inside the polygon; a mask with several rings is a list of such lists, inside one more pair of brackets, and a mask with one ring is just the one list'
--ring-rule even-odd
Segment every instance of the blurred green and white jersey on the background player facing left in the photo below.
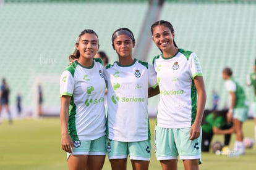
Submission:
{"label": "blurred green and white jersey on the background player facing left", "polygon": [[234,108],[244,108],[247,107],[247,101],[245,97],[245,92],[242,86],[234,80],[234,78],[230,78],[225,81],[225,86],[228,92],[234,92],[236,94],[236,102]]}

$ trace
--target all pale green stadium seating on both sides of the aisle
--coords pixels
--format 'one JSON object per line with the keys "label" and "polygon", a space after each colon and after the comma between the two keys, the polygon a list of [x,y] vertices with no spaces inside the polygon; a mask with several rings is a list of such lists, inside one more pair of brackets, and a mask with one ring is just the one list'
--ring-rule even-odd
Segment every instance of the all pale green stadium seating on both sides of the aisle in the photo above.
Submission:
{"label": "all pale green stadium seating on both sides of the aisle", "polygon": [[[0,6],[0,78],[5,77],[11,87],[11,105],[21,92],[25,107],[36,103],[35,79],[43,86],[44,105],[59,107],[58,76],[69,63],[68,56],[80,31],[95,30],[100,50],[113,63],[117,60],[111,47],[113,31],[127,27],[138,38],[148,9],[147,1],[21,2],[9,0]],[[228,102],[221,79],[223,67],[233,68],[234,76],[245,86],[245,75],[252,71],[256,58],[255,16],[256,5],[251,3],[164,3],[160,19],[173,24],[177,45],[194,51],[200,59],[207,108],[211,107],[213,89],[221,95],[221,107]],[[151,63],[160,51],[150,43],[147,60]],[[49,75],[57,77],[54,82],[43,79]],[[246,88],[246,92],[252,99],[251,90]]]}

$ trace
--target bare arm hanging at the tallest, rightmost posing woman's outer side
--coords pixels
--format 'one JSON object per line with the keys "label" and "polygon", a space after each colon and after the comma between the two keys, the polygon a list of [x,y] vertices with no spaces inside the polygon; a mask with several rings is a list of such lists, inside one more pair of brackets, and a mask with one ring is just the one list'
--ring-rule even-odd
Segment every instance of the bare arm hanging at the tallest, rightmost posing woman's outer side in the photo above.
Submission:
{"label": "bare arm hanging at the tallest, rightmost posing woman's outer side", "polygon": [[195,88],[197,89],[197,116],[195,117],[194,124],[192,124],[190,129],[190,140],[197,139],[200,136],[203,111],[205,109],[207,99],[203,77],[195,76],[194,83]]}

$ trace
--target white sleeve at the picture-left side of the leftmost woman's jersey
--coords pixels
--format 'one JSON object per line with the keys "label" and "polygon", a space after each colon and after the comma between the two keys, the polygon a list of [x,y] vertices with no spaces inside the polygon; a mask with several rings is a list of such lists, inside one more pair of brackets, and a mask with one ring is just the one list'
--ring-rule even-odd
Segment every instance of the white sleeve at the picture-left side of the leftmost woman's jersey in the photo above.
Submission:
{"label": "white sleeve at the picture-left side of the leftmost woman's jersey", "polygon": [[74,78],[69,71],[64,71],[60,79],[60,97],[63,95],[73,95],[74,91]]}

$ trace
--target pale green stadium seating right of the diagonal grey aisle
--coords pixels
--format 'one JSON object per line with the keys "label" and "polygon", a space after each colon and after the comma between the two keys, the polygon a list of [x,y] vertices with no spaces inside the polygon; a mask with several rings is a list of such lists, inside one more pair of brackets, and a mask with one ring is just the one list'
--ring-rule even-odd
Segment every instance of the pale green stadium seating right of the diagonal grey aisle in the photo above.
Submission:
{"label": "pale green stadium seating right of the diagonal grey aisle", "polygon": [[[228,105],[221,75],[224,67],[233,69],[234,77],[245,88],[247,99],[252,100],[254,93],[252,87],[246,87],[245,76],[253,71],[256,59],[255,16],[256,4],[164,4],[161,19],[173,24],[177,46],[198,55],[207,89],[207,108],[211,108],[213,90],[221,96],[220,107]],[[153,46],[151,54],[158,55],[160,51]]]}

